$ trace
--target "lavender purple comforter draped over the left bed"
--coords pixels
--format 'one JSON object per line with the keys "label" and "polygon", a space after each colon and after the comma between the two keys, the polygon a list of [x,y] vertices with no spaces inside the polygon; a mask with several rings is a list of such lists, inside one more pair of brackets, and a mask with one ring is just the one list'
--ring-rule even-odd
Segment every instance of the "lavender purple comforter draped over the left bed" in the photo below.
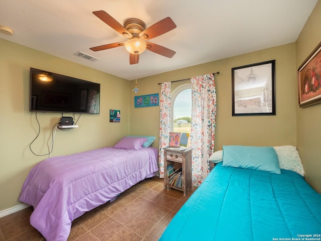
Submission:
{"label": "lavender purple comforter draped over the left bed", "polygon": [[158,171],[157,149],[101,148],[46,159],[29,173],[19,200],[47,240],[67,240],[72,221]]}

